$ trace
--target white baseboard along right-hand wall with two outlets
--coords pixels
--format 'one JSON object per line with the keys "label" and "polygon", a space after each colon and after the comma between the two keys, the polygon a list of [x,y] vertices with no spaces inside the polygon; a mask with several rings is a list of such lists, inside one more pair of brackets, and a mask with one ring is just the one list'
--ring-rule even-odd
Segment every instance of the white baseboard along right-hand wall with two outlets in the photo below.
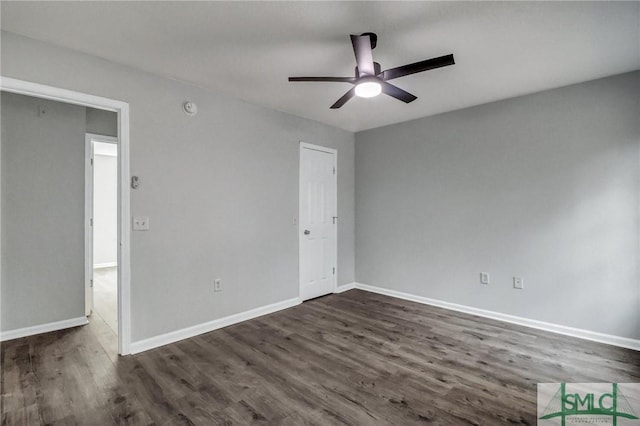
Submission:
{"label": "white baseboard along right-hand wall with two outlets", "polygon": [[456,303],[444,302],[442,300],[430,299],[428,297],[416,296],[409,293],[389,290],[382,287],[374,287],[374,286],[370,286],[362,283],[355,283],[355,288],[369,291],[372,293],[383,294],[385,296],[396,297],[398,299],[404,299],[412,302],[422,303],[425,305],[432,305],[432,306],[437,306],[439,308],[450,309],[452,311],[458,311],[458,312],[464,312],[466,314],[477,315],[479,317],[491,318],[498,321],[507,322],[510,324],[523,325],[525,327],[549,331],[551,333],[577,337],[579,339],[591,340],[593,342],[606,343],[608,345],[619,346],[622,348],[640,351],[640,340],[630,339],[628,337],[597,333],[595,331],[583,330],[583,329],[568,327],[568,326],[559,325],[559,324],[552,324],[544,321],[537,321],[529,318],[517,317],[514,315],[507,315],[507,314],[502,314],[500,312],[487,311],[485,309],[479,309],[479,308],[474,308],[474,307],[465,306],[465,305],[458,305]]}

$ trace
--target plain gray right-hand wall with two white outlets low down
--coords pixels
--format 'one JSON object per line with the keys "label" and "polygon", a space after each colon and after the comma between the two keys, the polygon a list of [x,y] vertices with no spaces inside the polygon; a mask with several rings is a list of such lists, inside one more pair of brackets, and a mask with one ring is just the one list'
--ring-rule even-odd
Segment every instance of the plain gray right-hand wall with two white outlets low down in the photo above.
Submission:
{"label": "plain gray right-hand wall with two white outlets low down", "polygon": [[635,72],[356,134],[356,280],[640,338],[639,94]]}

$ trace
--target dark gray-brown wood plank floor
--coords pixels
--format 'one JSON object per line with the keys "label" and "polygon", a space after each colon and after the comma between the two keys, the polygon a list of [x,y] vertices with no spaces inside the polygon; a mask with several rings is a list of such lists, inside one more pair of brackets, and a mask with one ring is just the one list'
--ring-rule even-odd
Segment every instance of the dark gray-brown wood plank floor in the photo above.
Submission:
{"label": "dark gray-brown wood plank floor", "polygon": [[2,424],[536,424],[538,382],[640,352],[360,290],[118,358],[100,321],[2,345]]}

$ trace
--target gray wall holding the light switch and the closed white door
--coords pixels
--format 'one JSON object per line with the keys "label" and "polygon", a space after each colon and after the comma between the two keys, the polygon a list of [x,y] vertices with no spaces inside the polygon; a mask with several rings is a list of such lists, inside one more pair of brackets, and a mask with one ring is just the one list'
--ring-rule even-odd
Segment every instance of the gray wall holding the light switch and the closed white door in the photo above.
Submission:
{"label": "gray wall holding the light switch and the closed white door", "polygon": [[338,282],[354,280],[352,133],[11,33],[1,47],[5,76],[130,105],[132,214],[151,225],[132,234],[134,341],[298,296],[300,141],[338,150]]}

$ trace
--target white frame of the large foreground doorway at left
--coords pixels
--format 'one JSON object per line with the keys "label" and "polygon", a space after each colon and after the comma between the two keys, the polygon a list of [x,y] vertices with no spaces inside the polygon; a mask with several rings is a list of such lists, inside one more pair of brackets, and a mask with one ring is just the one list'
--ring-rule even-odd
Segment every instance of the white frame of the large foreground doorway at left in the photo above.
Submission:
{"label": "white frame of the large foreground doorway at left", "polygon": [[118,353],[131,353],[131,205],[129,190],[129,104],[101,96],[0,76],[0,90],[118,115]]}

